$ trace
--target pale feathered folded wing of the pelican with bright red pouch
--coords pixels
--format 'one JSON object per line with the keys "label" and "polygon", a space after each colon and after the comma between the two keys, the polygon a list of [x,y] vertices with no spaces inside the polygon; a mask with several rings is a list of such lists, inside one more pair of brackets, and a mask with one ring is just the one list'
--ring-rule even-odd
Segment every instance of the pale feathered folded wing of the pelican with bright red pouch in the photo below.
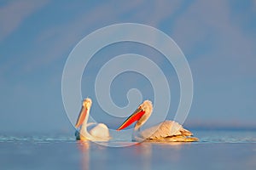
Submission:
{"label": "pale feathered folded wing of the pelican with bright red pouch", "polygon": [[177,122],[165,121],[154,127],[143,130],[140,135],[143,139],[163,139],[173,136],[191,136],[193,134],[184,129],[182,125]]}

